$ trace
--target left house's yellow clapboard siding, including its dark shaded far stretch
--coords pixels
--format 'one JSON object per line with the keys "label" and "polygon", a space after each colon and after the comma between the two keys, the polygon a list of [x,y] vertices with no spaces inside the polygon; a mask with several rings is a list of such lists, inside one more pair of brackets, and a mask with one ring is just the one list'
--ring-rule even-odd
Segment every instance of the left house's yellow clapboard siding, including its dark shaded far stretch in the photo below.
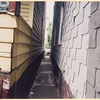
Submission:
{"label": "left house's yellow clapboard siding, including its dark shaded far stretch", "polygon": [[[45,3],[34,2],[29,8],[34,12],[31,19],[24,19],[21,3],[21,15],[0,13],[0,77],[3,80],[2,98],[5,93],[22,77],[28,66],[43,53],[43,39],[45,29]],[[30,5],[33,5],[30,3]],[[26,6],[25,6],[26,7]],[[26,8],[24,8],[25,10]],[[6,78],[4,78],[8,75]],[[5,81],[8,83],[4,85]],[[4,91],[7,92],[4,92]],[[15,91],[14,91],[15,92]],[[5,98],[5,97],[4,97]]]}

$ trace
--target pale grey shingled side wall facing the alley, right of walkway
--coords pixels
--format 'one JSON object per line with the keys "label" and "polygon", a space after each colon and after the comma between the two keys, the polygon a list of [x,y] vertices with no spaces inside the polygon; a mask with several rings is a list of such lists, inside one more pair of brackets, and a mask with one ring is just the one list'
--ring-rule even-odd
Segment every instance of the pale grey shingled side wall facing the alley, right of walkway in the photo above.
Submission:
{"label": "pale grey shingled side wall facing the alley, right of walkway", "polygon": [[[90,2],[64,2],[62,44],[58,45],[60,2],[55,4],[56,42],[52,55],[74,98],[85,98]],[[57,20],[57,22],[56,22]],[[58,23],[58,24],[57,24]],[[54,39],[54,36],[53,36]],[[53,42],[52,42],[53,43]]]}

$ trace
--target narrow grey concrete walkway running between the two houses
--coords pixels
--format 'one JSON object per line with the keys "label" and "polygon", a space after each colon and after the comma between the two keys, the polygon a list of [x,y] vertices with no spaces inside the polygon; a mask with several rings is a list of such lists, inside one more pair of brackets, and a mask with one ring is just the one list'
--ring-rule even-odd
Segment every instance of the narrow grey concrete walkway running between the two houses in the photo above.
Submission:
{"label": "narrow grey concrete walkway running between the two houses", "polygon": [[48,56],[41,62],[28,98],[58,98],[52,64]]}

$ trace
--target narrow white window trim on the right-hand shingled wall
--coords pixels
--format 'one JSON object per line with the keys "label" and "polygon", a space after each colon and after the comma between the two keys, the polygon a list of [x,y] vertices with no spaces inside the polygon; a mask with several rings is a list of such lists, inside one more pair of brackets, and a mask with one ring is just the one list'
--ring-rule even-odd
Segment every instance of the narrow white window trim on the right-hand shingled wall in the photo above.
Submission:
{"label": "narrow white window trim on the right-hand shingled wall", "polygon": [[59,39],[58,44],[61,44],[62,42],[62,29],[63,29],[63,3],[61,4],[61,12],[60,12],[60,26],[59,26]]}

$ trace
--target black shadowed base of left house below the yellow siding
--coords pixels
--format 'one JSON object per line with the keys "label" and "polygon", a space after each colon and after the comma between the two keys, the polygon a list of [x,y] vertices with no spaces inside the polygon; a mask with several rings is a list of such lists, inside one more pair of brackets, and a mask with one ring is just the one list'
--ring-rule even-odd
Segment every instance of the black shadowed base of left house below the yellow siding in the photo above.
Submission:
{"label": "black shadowed base of left house below the yellow siding", "polygon": [[8,92],[8,98],[27,98],[29,90],[34,82],[36,72],[40,66],[43,53],[40,54],[32,63],[27,67],[16,84],[14,84]]}

